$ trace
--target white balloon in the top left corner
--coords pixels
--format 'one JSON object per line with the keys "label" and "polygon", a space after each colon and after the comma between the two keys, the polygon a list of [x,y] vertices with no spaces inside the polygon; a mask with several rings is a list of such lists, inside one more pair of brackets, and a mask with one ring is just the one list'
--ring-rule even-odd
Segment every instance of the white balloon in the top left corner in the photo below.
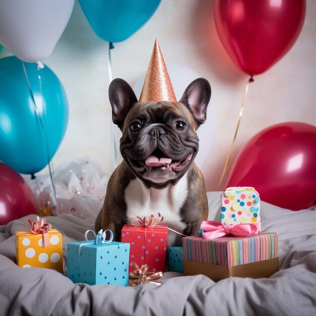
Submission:
{"label": "white balloon in the top left corner", "polygon": [[28,63],[47,58],[64,32],[75,0],[0,0],[0,43]]}

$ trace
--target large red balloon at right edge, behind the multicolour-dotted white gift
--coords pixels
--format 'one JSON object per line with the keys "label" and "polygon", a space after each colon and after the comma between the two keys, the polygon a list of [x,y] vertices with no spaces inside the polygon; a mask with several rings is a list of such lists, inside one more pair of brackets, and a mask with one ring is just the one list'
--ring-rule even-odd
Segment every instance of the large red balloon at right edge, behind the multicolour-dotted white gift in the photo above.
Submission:
{"label": "large red balloon at right edge, behind the multicolour-dotted white gift", "polygon": [[266,202],[299,210],[316,205],[316,127],[282,123],[254,135],[239,152],[227,186],[251,186]]}

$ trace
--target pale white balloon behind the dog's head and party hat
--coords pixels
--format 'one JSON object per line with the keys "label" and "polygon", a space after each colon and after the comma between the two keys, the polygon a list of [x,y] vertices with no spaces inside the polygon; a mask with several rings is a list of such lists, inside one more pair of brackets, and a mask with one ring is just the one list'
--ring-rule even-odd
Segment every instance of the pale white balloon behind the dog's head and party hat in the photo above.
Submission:
{"label": "pale white balloon behind the dog's head and party hat", "polygon": [[[176,63],[167,63],[166,66],[177,100],[181,98],[184,90],[193,80],[201,77],[197,72],[183,65],[179,65]],[[134,92],[138,99],[143,87],[144,80],[145,74],[143,74],[134,85]],[[211,96],[207,107],[206,122],[197,130],[197,135],[199,138],[199,150],[195,157],[195,163],[199,168],[202,168],[205,165],[208,156],[212,151],[215,143],[216,131],[217,114],[214,97]]]}

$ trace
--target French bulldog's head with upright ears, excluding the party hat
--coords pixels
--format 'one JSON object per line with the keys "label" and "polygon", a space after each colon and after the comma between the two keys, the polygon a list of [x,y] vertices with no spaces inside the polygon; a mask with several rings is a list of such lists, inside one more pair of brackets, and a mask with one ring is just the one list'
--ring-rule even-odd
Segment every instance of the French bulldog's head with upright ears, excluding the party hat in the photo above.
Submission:
{"label": "French bulldog's head with upright ears, excluding the party hat", "polygon": [[129,84],[112,81],[113,122],[122,131],[121,154],[146,185],[163,188],[181,178],[198,151],[196,130],[205,122],[209,83],[194,80],[179,102],[138,102]]}

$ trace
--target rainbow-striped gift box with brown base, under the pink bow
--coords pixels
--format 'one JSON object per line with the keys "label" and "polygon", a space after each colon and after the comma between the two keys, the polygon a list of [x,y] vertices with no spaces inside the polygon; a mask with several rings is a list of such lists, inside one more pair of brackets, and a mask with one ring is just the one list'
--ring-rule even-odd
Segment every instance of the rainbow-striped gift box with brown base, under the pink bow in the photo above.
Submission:
{"label": "rainbow-striped gift box with brown base, under the pink bow", "polygon": [[214,281],[227,277],[269,277],[279,270],[276,233],[248,237],[182,238],[184,274],[205,274]]}

